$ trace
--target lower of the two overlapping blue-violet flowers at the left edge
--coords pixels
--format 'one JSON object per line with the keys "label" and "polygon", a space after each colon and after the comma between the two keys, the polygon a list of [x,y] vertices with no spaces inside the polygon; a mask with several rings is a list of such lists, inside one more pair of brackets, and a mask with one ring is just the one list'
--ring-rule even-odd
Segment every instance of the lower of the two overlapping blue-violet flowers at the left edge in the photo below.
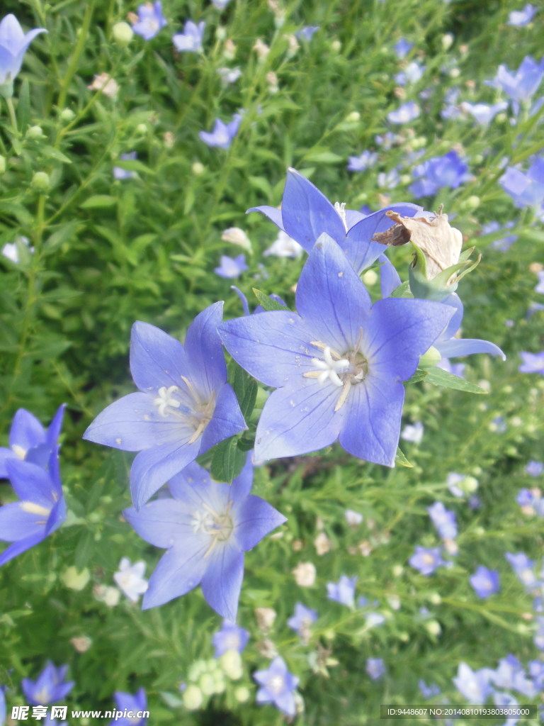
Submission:
{"label": "lower of the two overlapping blue-violet flowers at the left edge", "polygon": [[0,565],[34,547],[66,518],[58,447],[49,455],[49,470],[25,461],[9,460],[7,473],[20,501],[0,507],[0,540],[12,542],[1,553]]}

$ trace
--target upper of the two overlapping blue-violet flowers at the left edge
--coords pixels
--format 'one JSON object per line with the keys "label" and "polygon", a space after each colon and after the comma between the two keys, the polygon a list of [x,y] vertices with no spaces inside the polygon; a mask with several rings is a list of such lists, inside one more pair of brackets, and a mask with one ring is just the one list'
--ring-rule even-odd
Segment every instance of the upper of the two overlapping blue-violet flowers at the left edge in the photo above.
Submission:
{"label": "upper of the two overlapping blue-violet flowers at the left edge", "polygon": [[7,462],[26,461],[46,468],[51,452],[57,446],[65,404],[57,409],[49,428],[44,428],[36,416],[19,409],[9,431],[9,449],[0,446],[0,479],[8,478]]}

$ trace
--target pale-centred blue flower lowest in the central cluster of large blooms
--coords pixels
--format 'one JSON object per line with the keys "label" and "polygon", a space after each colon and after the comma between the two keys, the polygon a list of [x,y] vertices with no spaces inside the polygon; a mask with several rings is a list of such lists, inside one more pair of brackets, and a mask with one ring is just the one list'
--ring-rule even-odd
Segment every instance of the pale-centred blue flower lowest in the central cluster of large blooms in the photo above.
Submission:
{"label": "pale-centred blue flower lowest in the central cluster of large blooms", "polygon": [[212,481],[197,464],[170,478],[170,497],[124,515],[154,547],[168,548],[149,579],[142,607],[154,608],[202,584],[204,597],[223,618],[236,620],[244,552],[286,518],[250,494],[250,455],[232,484]]}

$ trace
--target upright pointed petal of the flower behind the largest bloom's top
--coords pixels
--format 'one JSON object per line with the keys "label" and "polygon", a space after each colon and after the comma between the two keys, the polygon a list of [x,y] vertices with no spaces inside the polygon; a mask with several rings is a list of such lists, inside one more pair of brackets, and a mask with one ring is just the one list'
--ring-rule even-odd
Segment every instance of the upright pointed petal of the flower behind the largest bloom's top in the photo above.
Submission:
{"label": "upright pointed petal of the flower behind the largest bloom's top", "polygon": [[287,172],[281,219],[289,237],[310,252],[320,234],[342,242],[346,230],[339,214],[329,200],[311,181],[295,169]]}

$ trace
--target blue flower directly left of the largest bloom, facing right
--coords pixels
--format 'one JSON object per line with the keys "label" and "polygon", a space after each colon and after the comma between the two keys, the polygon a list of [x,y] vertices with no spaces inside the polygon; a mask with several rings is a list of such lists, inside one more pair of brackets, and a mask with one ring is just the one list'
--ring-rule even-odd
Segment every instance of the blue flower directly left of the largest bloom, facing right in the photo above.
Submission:
{"label": "blue flower directly left of the largest bloom, facing right", "polygon": [[83,434],[96,444],[140,452],[131,468],[136,507],[199,454],[246,428],[226,382],[217,333],[222,309],[215,303],[199,313],[185,346],[153,325],[134,323],[131,372],[140,393],[108,406]]}

